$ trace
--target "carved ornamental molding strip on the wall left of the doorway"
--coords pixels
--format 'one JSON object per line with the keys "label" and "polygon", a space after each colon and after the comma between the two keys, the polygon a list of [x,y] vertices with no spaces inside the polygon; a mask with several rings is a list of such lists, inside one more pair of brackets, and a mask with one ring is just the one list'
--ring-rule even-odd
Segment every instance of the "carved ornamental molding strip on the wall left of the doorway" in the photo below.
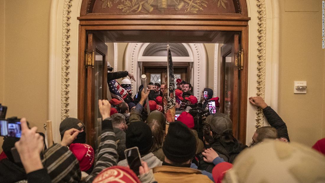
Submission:
{"label": "carved ornamental molding strip on the wall left of the doorway", "polygon": [[69,117],[69,49],[70,12],[72,0],[65,0],[62,18],[62,58],[61,58],[61,121]]}

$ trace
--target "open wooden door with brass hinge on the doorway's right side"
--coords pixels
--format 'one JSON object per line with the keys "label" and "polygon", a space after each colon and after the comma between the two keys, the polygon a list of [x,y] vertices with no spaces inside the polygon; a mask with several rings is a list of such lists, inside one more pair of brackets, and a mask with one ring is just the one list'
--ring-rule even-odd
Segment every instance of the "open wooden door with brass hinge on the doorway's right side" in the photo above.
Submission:
{"label": "open wooden door with brass hinge on the doorway's right side", "polygon": [[233,135],[239,139],[239,111],[240,111],[240,50],[239,33],[234,33],[221,47],[221,98],[220,112],[229,116],[233,124]]}

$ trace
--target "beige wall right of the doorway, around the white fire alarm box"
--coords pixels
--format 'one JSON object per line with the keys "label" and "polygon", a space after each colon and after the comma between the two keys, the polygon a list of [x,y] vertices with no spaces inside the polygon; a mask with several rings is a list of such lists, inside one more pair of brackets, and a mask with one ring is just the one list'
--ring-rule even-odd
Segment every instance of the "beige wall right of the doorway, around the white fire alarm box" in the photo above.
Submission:
{"label": "beige wall right of the doorway, around the white fire alarm box", "polygon": [[[292,141],[312,146],[325,137],[325,51],[321,48],[321,1],[308,1],[312,7],[305,3],[279,1],[279,115]],[[294,81],[307,81],[307,93],[294,94]]]}

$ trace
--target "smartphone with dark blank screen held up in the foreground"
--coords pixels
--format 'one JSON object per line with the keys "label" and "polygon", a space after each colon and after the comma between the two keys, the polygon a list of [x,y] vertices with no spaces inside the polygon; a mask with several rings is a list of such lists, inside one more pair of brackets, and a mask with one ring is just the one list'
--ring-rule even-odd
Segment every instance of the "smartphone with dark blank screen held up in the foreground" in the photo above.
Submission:
{"label": "smartphone with dark blank screen held up in the foreground", "polygon": [[133,147],[124,150],[124,154],[130,169],[133,170],[136,175],[139,175],[139,167],[141,164],[141,156],[138,147]]}

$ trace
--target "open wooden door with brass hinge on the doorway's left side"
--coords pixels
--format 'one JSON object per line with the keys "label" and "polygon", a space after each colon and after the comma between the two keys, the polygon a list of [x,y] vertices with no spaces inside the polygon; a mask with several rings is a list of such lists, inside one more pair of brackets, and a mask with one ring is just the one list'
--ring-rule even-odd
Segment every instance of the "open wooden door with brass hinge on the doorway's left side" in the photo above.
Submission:
{"label": "open wooden door with brass hinge on the doorway's left side", "polygon": [[[107,45],[94,33],[87,33],[86,44],[86,81],[85,81],[85,125],[87,144],[97,149],[101,115],[98,99],[106,99],[107,95]],[[87,59],[89,58],[89,59]],[[90,63],[90,61],[92,63]]]}

